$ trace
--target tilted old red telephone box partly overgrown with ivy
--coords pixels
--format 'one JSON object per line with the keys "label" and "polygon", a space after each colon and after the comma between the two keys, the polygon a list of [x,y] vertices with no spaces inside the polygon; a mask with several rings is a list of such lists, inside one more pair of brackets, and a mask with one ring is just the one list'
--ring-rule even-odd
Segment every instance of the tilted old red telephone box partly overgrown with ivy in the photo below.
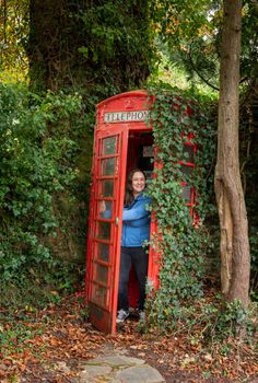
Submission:
{"label": "tilted old red telephone box partly overgrown with ivy", "polygon": [[[146,124],[152,100],[145,91],[127,92],[107,98],[97,105],[92,189],[89,217],[86,301],[90,321],[95,327],[114,334],[120,262],[121,216],[125,184],[128,172],[134,167],[152,177],[157,165],[154,156],[152,128]],[[180,162],[189,171],[194,165],[196,146],[192,136],[186,137],[185,150],[190,162]],[[190,209],[194,190],[183,184],[183,196]],[[105,200],[112,217],[103,218],[99,205]],[[154,219],[151,233],[156,231]],[[149,280],[159,286],[157,254],[150,248]],[[129,302],[137,303],[133,270],[129,282]]]}

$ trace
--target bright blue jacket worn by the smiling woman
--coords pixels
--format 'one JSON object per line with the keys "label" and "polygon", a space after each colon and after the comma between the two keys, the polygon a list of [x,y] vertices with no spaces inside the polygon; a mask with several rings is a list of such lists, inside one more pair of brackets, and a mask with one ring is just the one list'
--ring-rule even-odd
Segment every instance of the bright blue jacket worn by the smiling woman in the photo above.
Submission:
{"label": "bright blue jacket worn by the smiling woman", "polygon": [[140,247],[150,239],[151,213],[146,206],[151,198],[140,194],[129,207],[122,210],[121,246]]}

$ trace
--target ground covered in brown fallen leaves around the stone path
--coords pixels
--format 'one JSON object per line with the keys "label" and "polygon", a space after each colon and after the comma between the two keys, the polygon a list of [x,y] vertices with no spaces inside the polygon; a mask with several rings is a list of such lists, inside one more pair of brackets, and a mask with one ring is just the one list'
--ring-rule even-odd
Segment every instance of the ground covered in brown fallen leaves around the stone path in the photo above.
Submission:
{"label": "ground covered in brown fallen leaves around the stone path", "polygon": [[167,383],[258,383],[257,355],[248,344],[227,339],[224,349],[203,347],[187,333],[139,332],[136,318],[110,336],[85,317],[83,299],[74,294],[42,311],[25,307],[15,324],[0,324],[0,382],[72,383],[85,360],[113,348],[144,359]]}

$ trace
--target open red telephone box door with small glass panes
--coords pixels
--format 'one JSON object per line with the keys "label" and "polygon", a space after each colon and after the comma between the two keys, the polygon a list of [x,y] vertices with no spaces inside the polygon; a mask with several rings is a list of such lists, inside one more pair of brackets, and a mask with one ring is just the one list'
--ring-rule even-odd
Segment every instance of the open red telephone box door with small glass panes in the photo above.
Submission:
{"label": "open red telephone box door with small glass panes", "polygon": [[[120,236],[128,130],[98,130],[94,143],[87,242],[86,295],[91,323],[116,332]],[[103,205],[105,211],[103,211]]]}

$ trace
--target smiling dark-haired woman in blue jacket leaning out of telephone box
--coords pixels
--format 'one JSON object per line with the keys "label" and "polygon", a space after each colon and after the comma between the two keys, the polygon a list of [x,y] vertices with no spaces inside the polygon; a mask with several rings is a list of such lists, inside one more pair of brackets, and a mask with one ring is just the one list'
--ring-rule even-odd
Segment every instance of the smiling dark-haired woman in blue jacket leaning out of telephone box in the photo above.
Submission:
{"label": "smiling dark-haired woman in blue jacket leaning out of telephone box", "polygon": [[146,178],[134,169],[127,181],[125,206],[122,210],[122,234],[120,275],[118,287],[118,313],[116,322],[124,323],[129,316],[128,281],[131,265],[134,266],[139,282],[139,317],[144,320],[145,282],[149,255],[142,245],[150,239],[150,197],[143,196]]}

